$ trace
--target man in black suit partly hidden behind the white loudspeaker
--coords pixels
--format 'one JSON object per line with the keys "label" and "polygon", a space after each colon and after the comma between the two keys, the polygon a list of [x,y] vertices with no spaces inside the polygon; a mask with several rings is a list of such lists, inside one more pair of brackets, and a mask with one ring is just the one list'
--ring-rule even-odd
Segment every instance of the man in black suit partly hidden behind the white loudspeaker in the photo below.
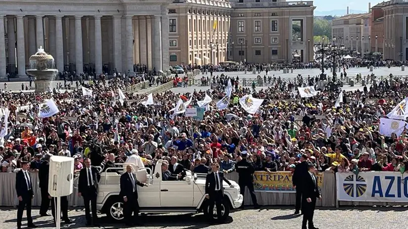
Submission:
{"label": "man in black suit partly hidden behind the white loudspeaker", "polygon": [[41,190],[41,207],[40,207],[40,216],[49,216],[47,214],[49,207],[49,193],[48,193],[48,173],[49,173],[49,158],[51,157],[50,153],[44,155],[44,159],[40,164],[38,170],[38,178],[40,179],[40,190]]}

